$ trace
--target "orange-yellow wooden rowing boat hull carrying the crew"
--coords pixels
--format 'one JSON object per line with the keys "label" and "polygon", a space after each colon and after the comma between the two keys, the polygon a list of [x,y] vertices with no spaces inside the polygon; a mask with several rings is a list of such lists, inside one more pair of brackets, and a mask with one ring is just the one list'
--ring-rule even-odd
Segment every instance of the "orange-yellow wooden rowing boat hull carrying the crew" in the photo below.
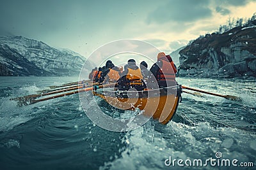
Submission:
{"label": "orange-yellow wooden rowing boat hull carrying the crew", "polygon": [[115,90],[111,88],[93,90],[94,96],[99,96],[108,104],[120,110],[135,110],[139,108],[146,117],[153,117],[161,124],[172,120],[178,108],[181,89],[179,85],[152,90]]}

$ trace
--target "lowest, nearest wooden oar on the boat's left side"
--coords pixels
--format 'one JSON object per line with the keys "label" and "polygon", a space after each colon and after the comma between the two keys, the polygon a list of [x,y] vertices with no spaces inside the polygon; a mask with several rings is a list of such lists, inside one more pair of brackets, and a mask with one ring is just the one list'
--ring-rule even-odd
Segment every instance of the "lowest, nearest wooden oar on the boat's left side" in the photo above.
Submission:
{"label": "lowest, nearest wooden oar on the boat's left side", "polygon": [[[102,89],[104,87],[112,87],[112,86],[115,86],[115,84],[116,83],[109,83],[107,85],[99,85],[99,86],[97,86],[96,89]],[[77,93],[80,93],[80,92],[87,92],[87,91],[90,91],[90,90],[93,90],[93,87],[88,87],[86,89],[76,90],[74,92],[68,92],[68,93],[65,93],[65,94],[59,94],[59,95],[56,95],[56,96],[45,97],[43,99],[36,99],[36,100],[31,99],[29,101],[19,101],[19,106],[33,104],[33,103],[38,103],[40,101],[47,101],[49,99],[55,99],[55,98],[58,98],[58,97],[69,96],[69,95],[77,94]]]}

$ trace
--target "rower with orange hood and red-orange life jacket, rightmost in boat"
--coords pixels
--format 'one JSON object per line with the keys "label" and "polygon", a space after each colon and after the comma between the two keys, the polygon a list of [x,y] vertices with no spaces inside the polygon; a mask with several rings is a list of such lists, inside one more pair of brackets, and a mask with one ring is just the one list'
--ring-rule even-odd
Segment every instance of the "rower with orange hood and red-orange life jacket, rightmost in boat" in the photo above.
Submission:
{"label": "rower with orange hood and red-orange life jacket, rightmost in boat", "polygon": [[157,62],[150,68],[150,72],[156,78],[160,88],[177,85],[175,80],[177,67],[170,55],[165,55],[163,52],[158,53]]}

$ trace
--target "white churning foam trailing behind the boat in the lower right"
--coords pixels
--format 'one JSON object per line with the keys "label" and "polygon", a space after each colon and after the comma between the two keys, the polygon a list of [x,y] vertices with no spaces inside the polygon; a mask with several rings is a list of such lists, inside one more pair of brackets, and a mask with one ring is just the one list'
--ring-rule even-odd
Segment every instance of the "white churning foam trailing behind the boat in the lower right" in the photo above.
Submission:
{"label": "white churning foam trailing behind the boat in the lower right", "polygon": [[249,145],[254,148],[255,134],[244,134],[232,127],[212,127],[208,122],[199,122],[196,126],[176,122],[166,126],[152,124],[147,123],[127,133],[123,139],[127,147],[121,151],[122,157],[106,162],[100,169],[170,169],[164,166],[164,160],[170,156],[183,160],[216,159],[216,152],[221,152],[225,158],[244,162],[255,159],[253,153],[247,153],[247,148],[244,148]]}

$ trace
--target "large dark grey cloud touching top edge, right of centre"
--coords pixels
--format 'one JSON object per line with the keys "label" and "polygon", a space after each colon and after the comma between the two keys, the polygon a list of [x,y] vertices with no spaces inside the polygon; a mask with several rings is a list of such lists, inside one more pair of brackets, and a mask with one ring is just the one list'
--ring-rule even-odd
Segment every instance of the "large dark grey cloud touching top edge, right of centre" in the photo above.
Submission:
{"label": "large dark grey cloud touching top edge, right of centre", "polygon": [[164,6],[159,6],[152,11],[147,18],[147,23],[156,22],[194,22],[202,18],[212,16],[212,11],[209,8],[209,0],[197,1],[169,1]]}

